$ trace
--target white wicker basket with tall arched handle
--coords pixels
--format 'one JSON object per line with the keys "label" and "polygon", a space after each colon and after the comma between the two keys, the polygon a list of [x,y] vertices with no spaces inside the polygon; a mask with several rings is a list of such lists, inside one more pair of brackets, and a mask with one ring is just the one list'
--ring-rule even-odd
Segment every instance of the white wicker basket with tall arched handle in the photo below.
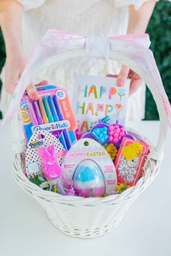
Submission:
{"label": "white wicker basket with tall arched handle", "polygon": [[[35,72],[45,67],[48,63],[54,65],[54,63],[60,62],[63,59],[84,57],[85,55],[85,49],[75,49],[57,54],[57,56],[51,57],[51,59],[43,62],[41,67],[36,68]],[[110,52],[110,59],[127,65],[143,78],[154,96],[159,111],[161,123],[157,146],[151,146],[151,154],[143,167],[145,176],[138,181],[136,186],[127,189],[122,192],[122,194],[105,198],[87,199],[81,197],[64,197],[50,191],[43,191],[39,186],[31,183],[24,175],[25,165],[23,152],[25,150],[25,141],[20,141],[17,114],[12,118],[15,180],[22,186],[22,189],[27,191],[28,194],[34,197],[43,206],[54,226],[57,226],[57,228],[65,234],[80,238],[92,238],[107,234],[120,224],[130,205],[133,204],[139,194],[146,189],[157,176],[167,133],[167,114],[162,96],[157,89],[155,81],[148,73],[144,72],[143,68],[139,67],[135,61],[133,62],[131,59],[125,58],[122,54]],[[142,139],[149,143],[146,138]]]}

